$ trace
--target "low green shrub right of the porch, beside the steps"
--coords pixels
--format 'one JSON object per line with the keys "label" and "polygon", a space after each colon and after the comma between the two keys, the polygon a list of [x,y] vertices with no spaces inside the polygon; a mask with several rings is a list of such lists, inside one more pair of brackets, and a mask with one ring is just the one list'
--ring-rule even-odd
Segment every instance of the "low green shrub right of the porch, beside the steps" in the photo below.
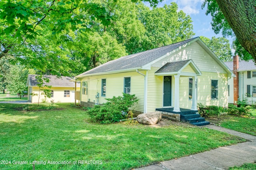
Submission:
{"label": "low green shrub right of the porch, beside the steps", "polygon": [[202,103],[197,104],[198,112],[202,117],[219,116],[220,109],[218,106],[206,106]]}

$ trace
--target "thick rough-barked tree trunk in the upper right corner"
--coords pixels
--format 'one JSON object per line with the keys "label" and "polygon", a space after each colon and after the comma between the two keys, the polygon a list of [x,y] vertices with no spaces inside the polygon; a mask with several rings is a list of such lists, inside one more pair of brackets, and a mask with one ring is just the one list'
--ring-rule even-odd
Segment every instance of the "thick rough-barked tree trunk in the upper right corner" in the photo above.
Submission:
{"label": "thick rough-barked tree trunk in the upper right corner", "polygon": [[256,62],[255,0],[216,0],[240,44]]}

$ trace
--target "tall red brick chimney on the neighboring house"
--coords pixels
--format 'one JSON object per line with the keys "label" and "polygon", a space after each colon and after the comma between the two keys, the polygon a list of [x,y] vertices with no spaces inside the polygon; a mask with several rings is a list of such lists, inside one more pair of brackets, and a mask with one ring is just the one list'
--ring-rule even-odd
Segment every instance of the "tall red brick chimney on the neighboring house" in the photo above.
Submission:
{"label": "tall red brick chimney on the neighboring house", "polygon": [[239,74],[237,72],[239,68],[239,59],[238,56],[233,56],[233,66],[234,66],[234,104],[237,105],[239,97]]}

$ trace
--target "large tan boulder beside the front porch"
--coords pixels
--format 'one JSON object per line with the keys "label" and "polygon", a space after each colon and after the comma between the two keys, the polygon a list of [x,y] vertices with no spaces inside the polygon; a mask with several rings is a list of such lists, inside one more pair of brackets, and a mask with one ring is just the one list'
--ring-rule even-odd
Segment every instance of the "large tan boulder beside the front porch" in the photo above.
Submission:
{"label": "large tan boulder beside the front porch", "polygon": [[152,125],[157,124],[162,119],[162,114],[160,112],[150,112],[143,113],[137,116],[137,121],[140,124]]}

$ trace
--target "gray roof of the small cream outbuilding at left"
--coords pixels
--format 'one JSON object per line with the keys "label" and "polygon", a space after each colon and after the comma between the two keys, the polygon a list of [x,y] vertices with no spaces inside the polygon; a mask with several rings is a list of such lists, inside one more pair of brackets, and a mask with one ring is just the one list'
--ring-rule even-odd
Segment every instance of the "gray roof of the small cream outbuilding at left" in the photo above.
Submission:
{"label": "gray roof of the small cream outbuilding at left", "polygon": [[[38,82],[36,80],[36,76],[37,76],[36,74],[29,74],[28,75],[31,86],[36,86],[38,84]],[[70,77],[62,76],[62,77],[58,78],[57,76],[52,76],[52,75],[44,75],[44,77],[48,78],[50,80],[49,83],[45,83],[45,85],[47,85],[47,86],[52,86],[52,87],[75,87],[75,82],[70,82],[70,80],[72,80],[72,78],[70,78]],[[80,85],[77,85],[77,86],[80,86]]]}

